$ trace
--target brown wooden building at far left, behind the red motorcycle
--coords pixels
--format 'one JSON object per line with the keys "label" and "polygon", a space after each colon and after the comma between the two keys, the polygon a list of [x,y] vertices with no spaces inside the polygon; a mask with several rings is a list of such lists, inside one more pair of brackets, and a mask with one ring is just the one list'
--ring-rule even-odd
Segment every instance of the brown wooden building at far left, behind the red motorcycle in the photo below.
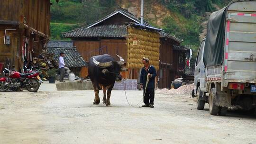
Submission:
{"label": "brown wooden building at far left, behind the red motorcycle", "polygon": [[[58,0],[56,0],[58,1]],[[0,62],[21,70],[39,57],[50,35],[50,0],[1,0]]]}

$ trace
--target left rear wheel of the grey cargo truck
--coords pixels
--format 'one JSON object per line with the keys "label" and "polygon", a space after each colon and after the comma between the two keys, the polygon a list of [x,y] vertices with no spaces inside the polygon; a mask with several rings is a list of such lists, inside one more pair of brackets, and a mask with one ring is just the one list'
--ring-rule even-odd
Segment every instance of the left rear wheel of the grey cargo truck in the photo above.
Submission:
{"label": "left rear wheel of the grey cargo truck", "polygon": [[211,88],[209,95],[209,111],[211,115],[218,115],[219,107],[215,105],[216,99],[216,88]]}

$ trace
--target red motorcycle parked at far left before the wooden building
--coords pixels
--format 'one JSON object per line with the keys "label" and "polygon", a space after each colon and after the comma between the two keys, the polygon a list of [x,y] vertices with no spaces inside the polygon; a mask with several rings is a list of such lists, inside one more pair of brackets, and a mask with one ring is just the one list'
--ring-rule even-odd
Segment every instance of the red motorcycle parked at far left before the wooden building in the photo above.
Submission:
{"label": "red motorcycle parked at far left before the wooden building", "polygon": [[38,71],[22,74],[13,69],[4,68],[3,73],[5,77],[0,78],[0,91],[8,89],[17,91],[20,88],[26,88],[30,92],[37,92],[42,81]]}

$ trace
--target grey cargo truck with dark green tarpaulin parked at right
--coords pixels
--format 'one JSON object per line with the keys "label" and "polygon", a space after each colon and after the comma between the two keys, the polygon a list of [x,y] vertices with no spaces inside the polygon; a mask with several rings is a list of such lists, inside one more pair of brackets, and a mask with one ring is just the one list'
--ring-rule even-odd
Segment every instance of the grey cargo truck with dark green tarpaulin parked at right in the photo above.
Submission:
{"label": "grey cargo truck with dark green tarpaulin parked at right", "polygon": [[256,108],[256,0],[233,0],[210,15],[198,51],[194,96],[211,115]]}

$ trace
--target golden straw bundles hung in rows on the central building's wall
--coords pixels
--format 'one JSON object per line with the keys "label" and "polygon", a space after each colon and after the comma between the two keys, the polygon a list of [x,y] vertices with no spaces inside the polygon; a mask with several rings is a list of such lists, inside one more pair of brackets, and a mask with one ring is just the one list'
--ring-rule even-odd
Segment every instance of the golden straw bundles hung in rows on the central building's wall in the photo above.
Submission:
{"label": "golden straw bundles hung in rows on the central building's wall", "polygon": [[[150,64],[159,69],[160,35],[157,32],[128,27],[128,68],[140,69],[143,67],[143,57],[150,59]],[[133,42],[137,41],[137,45]]]}

